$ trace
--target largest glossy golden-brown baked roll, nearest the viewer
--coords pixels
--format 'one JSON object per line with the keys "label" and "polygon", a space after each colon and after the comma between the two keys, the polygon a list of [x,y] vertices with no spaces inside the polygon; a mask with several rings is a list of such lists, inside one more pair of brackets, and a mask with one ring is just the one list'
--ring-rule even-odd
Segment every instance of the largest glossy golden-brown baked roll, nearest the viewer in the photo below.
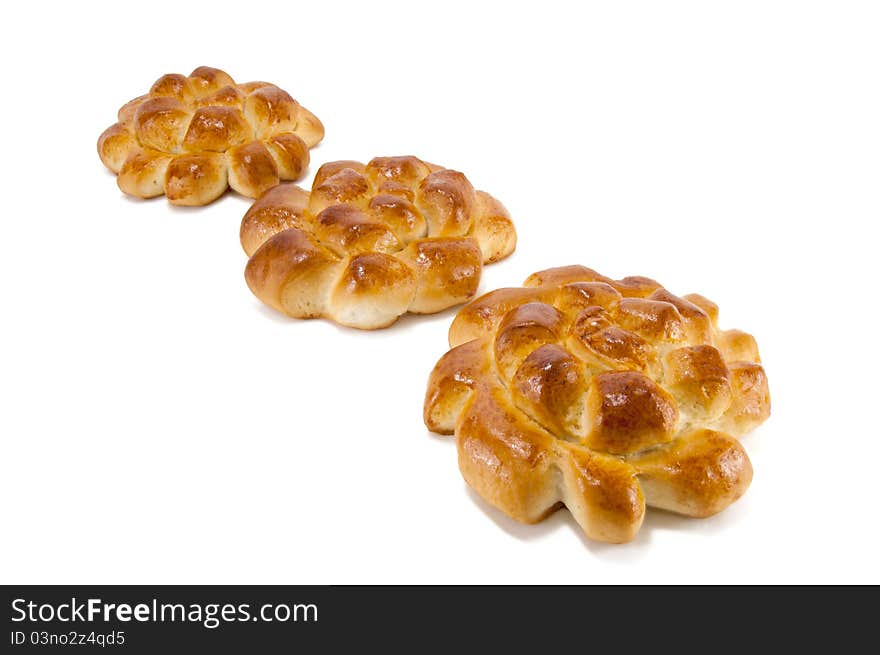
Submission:
{"label": "largest glossy golden-brown baked roll, nearest the viewer", "polygon": [[564,505],[620,543],[645,506],[711,516],[752,479],[737,440],[770,414],[758,346],[718,307],[582,266],[464,307],[428,381],[428,429],[455,434],[467,483],[524,523]]}

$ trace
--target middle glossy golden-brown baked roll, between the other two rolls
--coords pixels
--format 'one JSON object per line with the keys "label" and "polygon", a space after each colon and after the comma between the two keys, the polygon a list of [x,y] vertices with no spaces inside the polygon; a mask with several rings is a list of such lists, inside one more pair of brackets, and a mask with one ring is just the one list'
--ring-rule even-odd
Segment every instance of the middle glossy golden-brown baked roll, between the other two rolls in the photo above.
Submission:
{"label": "middle glossy golden-brown baked roll, between the other two rolls", "polygon": [[461,173],[416,157],[337,161],[311,193],[267,191],[245,214],[248,287],[296,318],[372,330],[470,300],[484,263],[513,252],[507,210]]}

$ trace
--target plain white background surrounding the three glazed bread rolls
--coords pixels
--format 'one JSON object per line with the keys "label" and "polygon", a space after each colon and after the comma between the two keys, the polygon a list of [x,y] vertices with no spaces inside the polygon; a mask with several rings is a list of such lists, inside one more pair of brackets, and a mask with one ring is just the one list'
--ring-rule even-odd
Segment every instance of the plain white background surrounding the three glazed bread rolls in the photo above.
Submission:
{"label": "plain white background surrounding the three glazed bread rolls", "polygon": [[[880,582],[876,3],[5,11],[0,581]],[[203,64],[323,120],[310,173],[415,154],[500,198],[519,247],[482,291],[581,263],[719,303],[773,395],[746,496],[623,546],[484,504],[421,419],[454,312],[273,314],[246,199],[131,200],[101,165],[119,105]]]}

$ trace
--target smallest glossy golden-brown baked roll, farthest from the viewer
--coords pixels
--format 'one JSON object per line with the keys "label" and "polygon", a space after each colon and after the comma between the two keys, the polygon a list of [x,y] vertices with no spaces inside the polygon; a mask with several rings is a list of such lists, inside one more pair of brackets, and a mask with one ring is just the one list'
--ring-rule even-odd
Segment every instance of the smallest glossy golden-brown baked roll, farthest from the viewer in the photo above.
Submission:
{"label": "smallest glossy golden-brown baked roll, farthest from the viewer", "polygon": [[281,180],[298,180],[322,138],[321,121],[286,91],[236,84],[202,66],[188,77],[163,75],[123,105],[98,139],[98,154],[129,195],[207,205],[227,187],[256,198]]}

